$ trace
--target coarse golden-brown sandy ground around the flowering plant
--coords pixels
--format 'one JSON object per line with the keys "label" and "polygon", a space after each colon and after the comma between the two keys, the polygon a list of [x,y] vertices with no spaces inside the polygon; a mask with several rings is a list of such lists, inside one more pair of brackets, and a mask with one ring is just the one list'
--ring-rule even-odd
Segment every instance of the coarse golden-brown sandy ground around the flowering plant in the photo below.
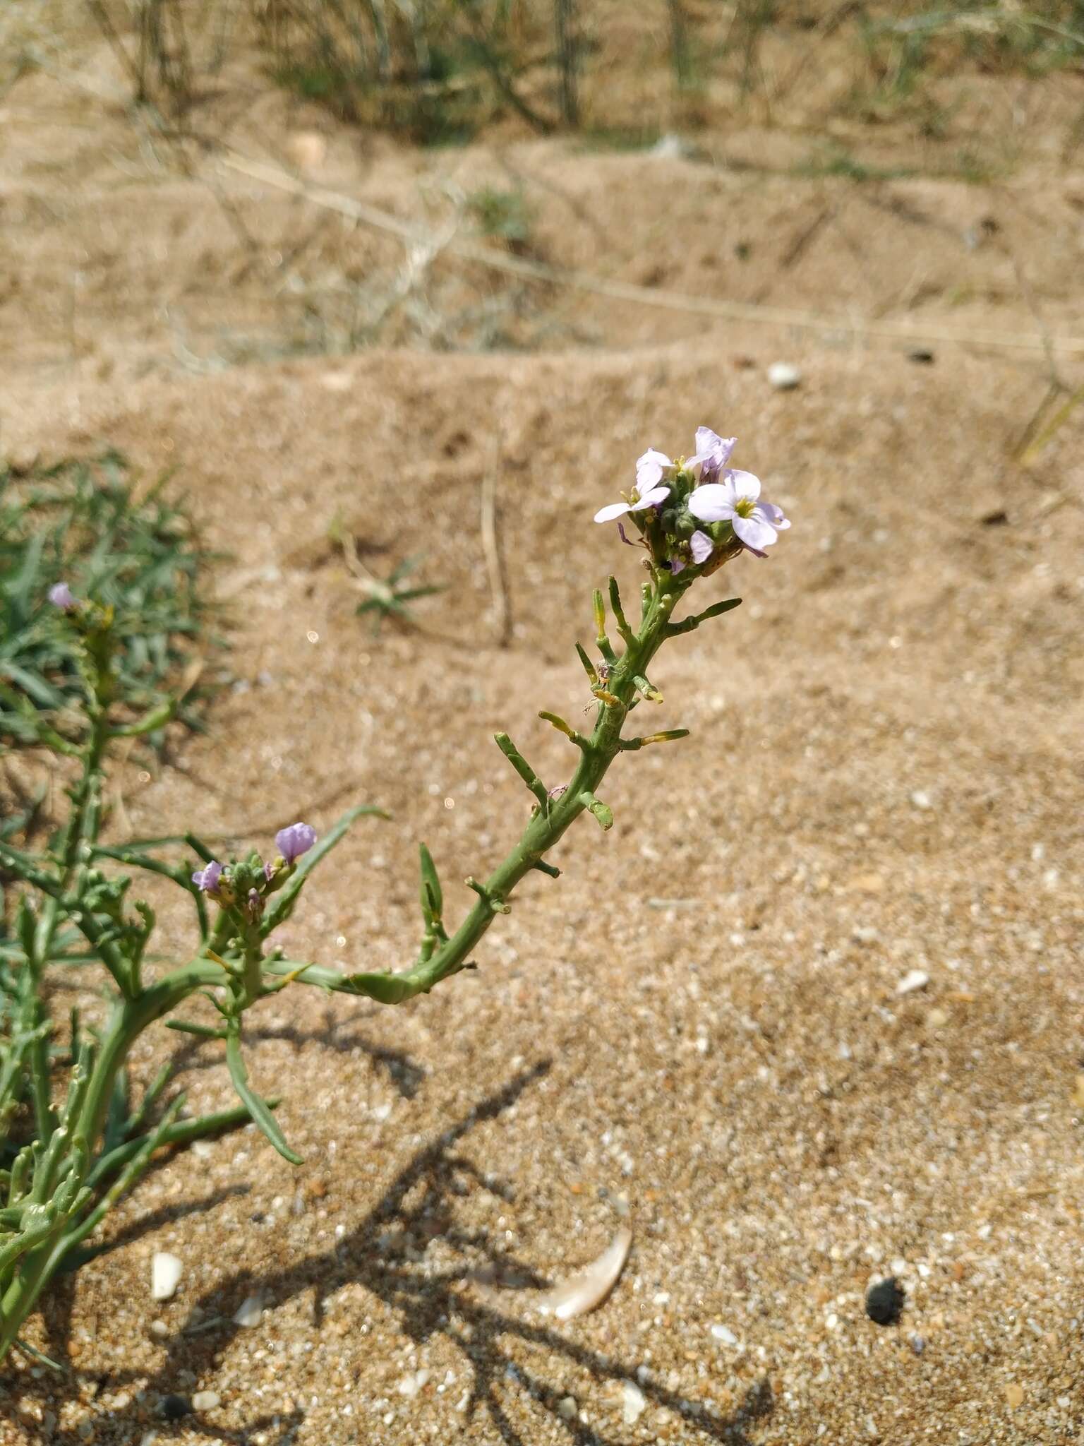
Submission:
{"label": "coarse golden-brown sandy ground around the flowering plant", "polygon": [[[929,364],[532,292],[529,327],[558,328],[548,350],[298,357],[282,354],[289,296],[251,282],[249,334],[280,351],[227,357],[249,281],[231,285],[214,201],[176,178],[142,211],[134,187],[103,200],[93,175],[59,195],[26,163],[45,87],[32,77],[4,103],[23,158],[6,207],[27,217],[7,237],[23,301],[0,308],[6,343],[35,286],[43,318],[59,307],[48,275],[74,275],[77,234],[94,252],[95,227],[113,228],[116,269],[87,283],[84,347],[43,320],[9,356],[0,435],[23,460],[108,441],[147,476],[175,466],[230,552],[215,587],[237,681],[175,766],[117,774],[134,833],[267,847],[295,817],[392,813],[314,879],[282,934],[293,956],[408,963],[419,839],[449,917],[468,905],[458,881],[502,856],[529,805],[497,729],[548,782],[568,775],[536,711],[582,716],[572,643],[590,638],[590,590],[611,570],[636,587],[635,555],[590,519],[646,445],[688,450],[701,422],[736,432],[736,460],[793,528],[770,561],[702,584],[705,603],[744,603],[656,662],[652,723],[691,737],[619,761],[614,829],[577,824],[561,879],[522,886],[477,972],[399,1009],[298,985],[250,1017],[253,1080],[282,1096],[305,1164],[253,1129],[163,1158],[30,1332],[71,1374],[13,1361],[0,1378],[4,1446],[1084,1440],[1083,424],[1018,460],[1048,388],[1041,351],[939,346]],[[42,165],[55,140],[39,134]],[[421,168],[452,165],[374,145],[364,194],[403,214]],[[887,315],[909,314],[912,272],[935,273],[937,296],[915,302],[931,324],[1033,334],[1038,305],[1057,331],[1084,327],[1080,171],[1036,161],[1006,201],[931,178],[872,192],[515,145],[594,231],[620,233],[610,254],[536,188],[561,265],[639,282],[672,266],[668,286],[838,314],[895,296]],[[327,181],[344,185],[348,139],[334,146]],[[497,165],[481,145],[452,159]],[[53,191],[55,224],[27,200]],[[685,207],[681,224],[649,224],[645,194],[661,214]],[[782,268],[783,220],[792,246],[825,198],[857,253],[828,228]],[[267,244],[301,224],[270,192],[251,204]],[[973,244],[993,207],[1000,230]],[[176,240],[163,276],[143,247],[153,257],[178,214],[198,241]],[[728,260],[710,282],[697,257],[741,237],[753,269]],[[387,243],[356,244],[364,260]],[[197,275],[198,366],[162,309]],[[497,285],[464,276],[449,265],[441,286]],[[796,390],[769,386],[780,359]],[[1080,385],[1080,362],[1061,366]],[[332,521],[377,570],[425,555],[421,576],[447,591],[419,604],[421,628],[371,636]],[[163,930],[182,951],[184,914]],[[900,993],[913,972],[926,982]],[[217,1048],[165,1030],[134,1074],[168,1057],[191,1109],[228,1099]],[[532,1309],[532,1287],[626,1225],[603,1307]],[[184,1262],[168,1303],[150,1297],[155,1251]],[[863,1297],[889,1274],[905,1309],[879,1326]],[[236,1325],[253,1296],[259,1323]],[[218,1403],[163,1421],[165,1397],[195,1392]]]}

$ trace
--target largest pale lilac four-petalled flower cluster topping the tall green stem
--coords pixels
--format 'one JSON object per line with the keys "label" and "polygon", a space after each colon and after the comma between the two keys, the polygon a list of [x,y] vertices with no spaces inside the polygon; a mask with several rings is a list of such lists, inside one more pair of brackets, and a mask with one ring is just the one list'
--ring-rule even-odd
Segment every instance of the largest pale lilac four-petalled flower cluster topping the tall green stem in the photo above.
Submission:
{"label": "largest pale lilac four-petalled flower cluster topping the tall green stem", "polygon": [[[623,502],[595,513],[595,522],[626,515],[640,531],[656,567],[714,571],[741,551],[766,557],[766,548],[791,526],[782,508],[760,499],[760,480],[730,467],[736,437],[697,428],[695,453],[672,461],[649,448],[636,463],[636,483]],[[627,542],[624,528],[619,522]]]}

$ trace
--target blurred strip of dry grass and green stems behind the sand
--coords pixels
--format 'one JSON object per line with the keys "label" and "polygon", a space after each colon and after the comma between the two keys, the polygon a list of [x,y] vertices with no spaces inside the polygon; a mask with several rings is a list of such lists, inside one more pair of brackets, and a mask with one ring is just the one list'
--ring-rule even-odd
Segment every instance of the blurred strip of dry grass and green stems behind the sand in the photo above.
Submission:
{"label": "blurred strip of dry grass and green stems behind the sand", "polygon": [[48,0],[4,12],[9,82],[65,25],[93,22],[133,100],[175,120],[256,46],[270,78],[337,120],[425,145],[504,116],[635,142],[734,107],[769,119],[825,78],[838,111],[906,113],[935,133],[950,119],[938,81],[958,67],[1033,75],[1084,58],[1084,0],[68,0],[56,23]]}

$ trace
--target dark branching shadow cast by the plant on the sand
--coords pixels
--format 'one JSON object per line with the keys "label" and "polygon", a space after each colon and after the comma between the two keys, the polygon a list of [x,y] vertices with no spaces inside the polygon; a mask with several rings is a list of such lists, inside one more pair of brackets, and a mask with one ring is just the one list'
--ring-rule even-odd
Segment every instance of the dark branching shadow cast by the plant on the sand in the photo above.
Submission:
{"label": "dark branching shadow cast by the plant on the sand", "polygon": [[[457,1226],[452,1213],[454,1200],[463,1197],[470,1181],[494,1189],[493,1181],[480,1178],[477,1167],[460,1155],[457,1147],[476,1125],[496,1119],[507,1111],[523,1090],[548,1070],[549,1064],[543,1061],[516,1074],[503,1089],[480,1100],[454,1125],[422,1145],[389,1184],[383,1197],[366,1213],[357,1229],[338,1241],[332,1249],[309,1255],[283,1271],[256,1275],[251,1271],[237,1270],[225,1275],[212,1291],[195,1301],[192,1313],[199,1313],[198,1332],[182,1332],[171,1339],[159,1371],[142,1382],[142,1398],[153,1401],[175,1391],[182,1369],[197,1378],[214,1374],[212,1356],[223,1352],[227,1342],[241,1329],[233,1320],[217,1316],[223,1300],[240,1301],[243,1297],[260,1294],[269,1306],[280,1306],[295,1296],[312,1293],[312,1323],[319,1327],[325,1301],[345,1285],[360,1284],[397,1314],[399,1329],[412,1340],[421,1345],[442,1335],[461,1352],[464,1364],[473,1372],[470,1400],[463,1420],[470,1421],[478,1411],[484,1411],[494,1433],[493,1440],[500,1440],[506,1446],[529,1446],[529,1437],[509,1419],[503,1403],[506,1392],[515,1387],[533,1403],[535,1410],[542,1410],[552,1419],[554,1427],[567,1437],[569,1446],[619,1446],[626,1433],[607,1434],[606,1430],[587,1426],[577,1419],[565,1420],[559,1411],[565,1391],[549,1384],[538,1368],[528,1369],[516,1361],[513,1352],[506,1349],[504,1339],[519,1339],[529,1346],[564,1356],[600,1381],[636,1379],[635,1362],[610,1355],[601,1356],[562,1336],[555,1323],[504,1314],[491,1299],[480,1300],[477,1294],[470,1294],[464,1288],[486,1268],[499,1278],[515,1278],[519,1284],[530,1287],[548,1284],[533,1270],[523,1267],[490,1241],[484,1231],[465,1231]],[[218,1199],[220,1196],[208,1197],[201,1207],[210,1209]],[[139,1233],[153,1223],[153,1219],[142,1222]],[[432,1235],[438,1226],[444,1244],[461,1254],[463,1264],[442,1274],[426,1275],[418,1268],[416,1251],[409,1242],[413,1231],[425,1236]],[[126,1235],[126,1241],[130,1238]],[[509,1296],[515,1299],[515,1293],[510,1291]],[[58,1310],[66,1322],[64,1303],[56,1301],[49,1307],[52,1317],[49,1335],[53,1342],[58,1333],[55,1327],[59,1323]],[[62,1349],[62,1342],[56,1342],[56,1348]],[[71,1366],[68,1369],[74,1374]],[[110,1372],[107,1382],[100,1384],[108,1384],[116,1390],[127,1382],[134,1384],[136,1379],[140,1377],[134,1372]],[[23,1381],[23,1397],[36,1394],[38,1382],[29,1374]],[[681,1419],[685,1430],[682,1439],[689,1443],[702,1440],[752,1446],[754,1437],[750,1433],[754,1433],[757,1421],[765,1420],[773,1410],[767,1379],[750,1387],[743,1404],[728,1416],[723,1416],[707,1403],[669,1391],[652,1379],[642,1381],[640,1390],[650,1406],[666,1407]],[[155,1426],[159,1440],[168,1440],[175,1432],[191,1430],[199,1423],[198,1416],[186,1416],[175,1424],[160,1419],[150,1423],[146,1419],[146,1407],[140,1413],[137,1403],[101,1414],[103,1424],[108,1420],[111,1430],[116,1433],[120,1429],[123,1439],[129,1439],[123,1436],[127,1427],[132,1440],[139,1440],[149,1424]],[[267,1446],[288,1446],[296,1437],[304,1420],[305,1414],[298,1408],[289,1414],[254,1417],[243,1429],[230,1430],[220,1426],[207,1429],[215,1440],[231,1446],[249,1442],[254,1432],[263,1433]],[[366,1426],[361,1423],[357,1426],[344,1423],[344,1432],[341,1437],[344,1446],[347,1442],[366,1439]],[[49,1440],[52,1446],[81,1446],[84,1439],[77,1430],[56,1430]]]}

